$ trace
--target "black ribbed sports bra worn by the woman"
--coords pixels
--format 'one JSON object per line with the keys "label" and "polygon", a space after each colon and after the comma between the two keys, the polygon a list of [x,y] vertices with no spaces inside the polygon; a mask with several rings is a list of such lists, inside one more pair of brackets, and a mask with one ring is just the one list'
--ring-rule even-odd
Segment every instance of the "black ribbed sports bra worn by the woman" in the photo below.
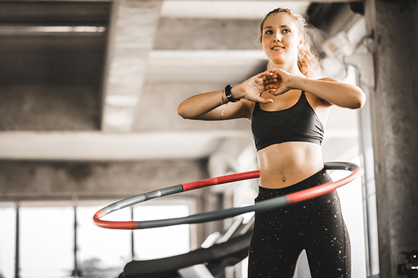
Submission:
{"label": "black ribbed sports bra worn by the woman", "polygon": [[294,106],[280,111],[264,111],[256,103],[251,118],[256,149],[282,142],[313,142],[321,145],[324,127],[302,91]]}

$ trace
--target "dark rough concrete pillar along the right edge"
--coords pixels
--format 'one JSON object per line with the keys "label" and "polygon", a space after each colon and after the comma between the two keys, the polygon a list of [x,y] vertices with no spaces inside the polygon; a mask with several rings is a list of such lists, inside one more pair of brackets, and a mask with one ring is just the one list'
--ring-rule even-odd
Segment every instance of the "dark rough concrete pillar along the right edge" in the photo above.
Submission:
{"label": "dark rough concrete pillar along the right edge", "polygon": [[374,34],[371,93],[380,278],[418,248],[417,1],[366,1]]}

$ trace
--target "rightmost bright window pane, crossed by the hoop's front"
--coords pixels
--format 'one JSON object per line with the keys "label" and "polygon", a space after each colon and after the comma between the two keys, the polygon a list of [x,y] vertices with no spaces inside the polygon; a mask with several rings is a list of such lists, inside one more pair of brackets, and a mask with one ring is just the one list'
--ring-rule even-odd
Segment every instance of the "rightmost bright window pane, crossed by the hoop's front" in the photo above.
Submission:
{"label": "rightmost bright window pane, crossed by the hoop's front", "polygon": [[[134,206],[138,221],[179,218],[189,215],[187,205]],[[190,251],[189,224],[134,231],[134,254],[137,260],[157,259]]]}

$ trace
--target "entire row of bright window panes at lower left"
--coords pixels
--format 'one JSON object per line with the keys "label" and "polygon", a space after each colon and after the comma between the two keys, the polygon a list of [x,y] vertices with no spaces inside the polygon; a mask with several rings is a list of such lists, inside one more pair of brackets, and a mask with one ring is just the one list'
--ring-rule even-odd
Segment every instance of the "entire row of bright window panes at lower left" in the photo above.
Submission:
{"label": "entire row of bright window panes at lower left", "polygon": [[[97,201],[83,203],[98,204]],[[15,204],[0,203],[1,278],[70,278],[76,267],[79,277],[113,278],[123,272],[132,256],[155,259],[190,250],[188,224],[137,231],[97,227],[93,215],[109,202],[100,202],[100,206],[76,207],[71,206],[72,202],[61,201],[50,206],[46,206],[46,202],[20,204],[17,214]],[[135,220],[178,218],[189,215],[187,204],[182,201],[169,205],[134,206],[102,219],[130,221],[133,213],[137,217]],[[19,261],[16,264],[17,245]],[[18,274],[15,273],[16,265],[19,266]]]}

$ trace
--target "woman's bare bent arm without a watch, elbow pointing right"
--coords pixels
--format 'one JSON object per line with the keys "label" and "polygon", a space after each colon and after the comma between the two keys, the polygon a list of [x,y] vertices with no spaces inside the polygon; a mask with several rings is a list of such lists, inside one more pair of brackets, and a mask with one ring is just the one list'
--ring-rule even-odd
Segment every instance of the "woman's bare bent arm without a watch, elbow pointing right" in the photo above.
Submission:
{"label": "woman's bare bent arm without a watch, elbow pointing right", "polygon": [[[291,89],[309,92],[330,105],[343,108],[362,108],[366,101],[366,95],[359,87],[343,83],[338,79],[325,77],[323,79],[306,79],[301,76],[288,74],[284,70],[272,69],[278,77],[274,83],[270,83],[269,92],[273,95],[281,95]],[[270,79],[272,80],[272,79]]]}

